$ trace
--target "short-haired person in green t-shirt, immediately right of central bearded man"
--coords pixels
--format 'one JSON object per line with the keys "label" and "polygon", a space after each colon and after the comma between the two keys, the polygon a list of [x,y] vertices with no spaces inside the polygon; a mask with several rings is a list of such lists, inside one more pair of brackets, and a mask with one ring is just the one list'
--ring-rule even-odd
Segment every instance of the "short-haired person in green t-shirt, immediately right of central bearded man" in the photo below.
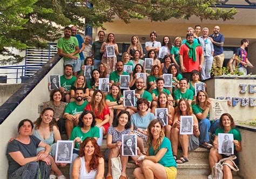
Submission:
{"label": "short-haired person in green t-shirt, immediately right of central bearded man", "polygon": [[164,78],[158,78],[156,82],[157,88],[152,90],[152,105],[157,106],[158,95],[160,94],[160,92],[165,92],[168,95],[168,101],[173,101],[170,91],[164,89]]}

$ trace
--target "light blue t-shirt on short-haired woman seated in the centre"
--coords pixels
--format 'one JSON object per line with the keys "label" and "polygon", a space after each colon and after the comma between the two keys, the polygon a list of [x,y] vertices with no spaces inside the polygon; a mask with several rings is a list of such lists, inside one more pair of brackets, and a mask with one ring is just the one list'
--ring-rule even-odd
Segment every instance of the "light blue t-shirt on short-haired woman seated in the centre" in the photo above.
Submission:
{"label": "light blue t-shirt on short-haired woman seated in the centre", "polygon": [[146,116],[139,116],[139,113],[137,112],[135,114],[132,114],[131,124],[133,125],[134,130],[137,130],[137,128],[145,130],[153,119],[155,119],[155,117],[154,114],[151,112],[147,112]]}

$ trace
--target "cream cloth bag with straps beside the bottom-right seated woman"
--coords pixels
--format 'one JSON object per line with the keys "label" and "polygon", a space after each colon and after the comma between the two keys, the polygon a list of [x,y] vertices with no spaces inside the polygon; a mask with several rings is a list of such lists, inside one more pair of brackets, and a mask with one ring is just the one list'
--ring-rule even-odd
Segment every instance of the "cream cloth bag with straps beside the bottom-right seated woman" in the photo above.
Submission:
{"label": "cream cloth bag with straps beside the bottom-right seated woman", "polygon": [[[230,157],[221,159],[218,163],[215,163],[214,166],[212,167],[212,179],[223,179],[223,165],[224,164],[226,164],[228,167],[230,167],[234,171],[239,171],[239,168],[233,161],[235,159],[237,159],[237,156],[232,155]],[[234,167],[228,163],[224,163],[224,161],[226,161],[226,160],[232,161],[234,164]]]}

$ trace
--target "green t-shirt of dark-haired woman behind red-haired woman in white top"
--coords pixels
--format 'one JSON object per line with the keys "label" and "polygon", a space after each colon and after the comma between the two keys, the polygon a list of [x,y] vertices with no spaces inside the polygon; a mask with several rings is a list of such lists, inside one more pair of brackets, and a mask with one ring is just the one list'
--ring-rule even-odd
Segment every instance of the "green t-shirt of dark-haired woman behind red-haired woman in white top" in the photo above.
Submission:
{"label": "green t-shirt of dark-haired woman behind red-haired woman in white top", "polygon": [[[84,139],[87,137],[99,138],[99,128],[94,126],[94,127],[91,127],[88,132],[83,133],[83,131],[81,130],[81,127],[76,126],[75,128],[73,128],[69,140],[74,140],[76,137],[79,137],[80,139],[82,139],[82,141],[84,141]],[[79,146],[80,145],[78,144],[78,142],[76,142],[75,148],[79,148]]]}

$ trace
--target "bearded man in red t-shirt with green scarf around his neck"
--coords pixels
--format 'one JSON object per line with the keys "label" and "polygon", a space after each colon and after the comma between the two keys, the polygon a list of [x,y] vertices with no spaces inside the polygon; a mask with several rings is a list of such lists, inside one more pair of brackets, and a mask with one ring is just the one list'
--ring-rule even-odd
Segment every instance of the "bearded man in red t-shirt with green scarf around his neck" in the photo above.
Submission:
{"label": "bearded man in red t-shirt with green scarf around his neck", "polygon": [[186,35],[185,44],[179,50],[180,69],[187,79],[191,76],[191,71],[201,71],[204,63],[203,49],[200,44],[194,42],[194,34]]}

